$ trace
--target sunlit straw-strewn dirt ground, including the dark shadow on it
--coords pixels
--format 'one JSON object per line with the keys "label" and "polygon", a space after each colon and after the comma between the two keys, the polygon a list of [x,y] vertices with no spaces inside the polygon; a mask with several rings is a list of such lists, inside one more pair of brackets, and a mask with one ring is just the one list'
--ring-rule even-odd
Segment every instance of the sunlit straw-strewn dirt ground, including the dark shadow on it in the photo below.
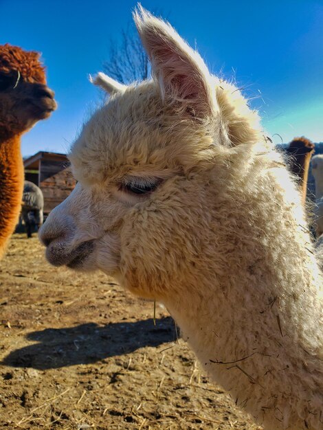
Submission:
{"label": "sunlit straw-strewn dirt ground, including the dark shadow on it", "polygon": [[[34,235],[35,236],[35,235]],[[260,430],[174,321],[107,276],[50,267],[36,237],[0,263],[0,429]]]}

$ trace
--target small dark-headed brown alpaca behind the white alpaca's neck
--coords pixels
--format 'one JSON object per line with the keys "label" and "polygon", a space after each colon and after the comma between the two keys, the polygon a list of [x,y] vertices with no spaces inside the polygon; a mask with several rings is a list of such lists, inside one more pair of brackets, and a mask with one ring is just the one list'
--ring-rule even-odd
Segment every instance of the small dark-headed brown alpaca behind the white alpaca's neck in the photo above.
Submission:
{"label": "small dark-headed brown alpaca behind the white alpaca's neck", "polygon": [[315,145],[306,137],[295,137],[286,149],[290,155],[289,168],[298,177],[302,192],[302,203],[307,198],[307,179],[309,177],[309,163],[314,153]]}

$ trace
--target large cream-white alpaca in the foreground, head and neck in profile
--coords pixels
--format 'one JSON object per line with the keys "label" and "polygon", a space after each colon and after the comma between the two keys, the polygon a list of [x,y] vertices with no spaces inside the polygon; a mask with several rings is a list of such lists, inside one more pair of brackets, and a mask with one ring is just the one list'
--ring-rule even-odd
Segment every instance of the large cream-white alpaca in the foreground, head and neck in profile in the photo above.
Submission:
{"label": "large cream-white alpaca in the foreground, head and neck in profile", "polygon": [[69,158],[47,259],[163,303],[214,381],[265,429],[323,428],[322,275],[300,193],[241,93],[170,25],[135,21],[153,80],[120,87]]}

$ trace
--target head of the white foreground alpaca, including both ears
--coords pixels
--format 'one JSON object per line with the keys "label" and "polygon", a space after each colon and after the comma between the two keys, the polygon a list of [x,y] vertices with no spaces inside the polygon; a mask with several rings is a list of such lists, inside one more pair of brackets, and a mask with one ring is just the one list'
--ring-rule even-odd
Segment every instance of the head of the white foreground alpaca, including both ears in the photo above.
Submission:
{"label": "head of the white foreground alpaca, including both ears", "polygon": [[142,9],[135,23],[153,80],[93,79],[110,98],[72,146],[78,184],[40,237],[52,264],[102,269],[160,299],[170,278],[193,279],[210,251],[208,210],[241,159],[238,148],[252,148],[260,127],[241,93],[211,76],[168,23]]}

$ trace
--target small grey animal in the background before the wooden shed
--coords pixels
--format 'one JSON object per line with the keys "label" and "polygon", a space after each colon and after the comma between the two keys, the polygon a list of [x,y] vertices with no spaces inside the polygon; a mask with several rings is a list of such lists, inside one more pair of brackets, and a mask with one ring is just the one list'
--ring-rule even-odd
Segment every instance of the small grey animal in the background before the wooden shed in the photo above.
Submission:
{"label": "small grey animal in the background before the wooden shed", "polygon": [[25,223],[27,238],[32,237],[32,232],[43,224],[44,197],[41,188],[30,181],[23,185],[23,207],[21,216]]}

